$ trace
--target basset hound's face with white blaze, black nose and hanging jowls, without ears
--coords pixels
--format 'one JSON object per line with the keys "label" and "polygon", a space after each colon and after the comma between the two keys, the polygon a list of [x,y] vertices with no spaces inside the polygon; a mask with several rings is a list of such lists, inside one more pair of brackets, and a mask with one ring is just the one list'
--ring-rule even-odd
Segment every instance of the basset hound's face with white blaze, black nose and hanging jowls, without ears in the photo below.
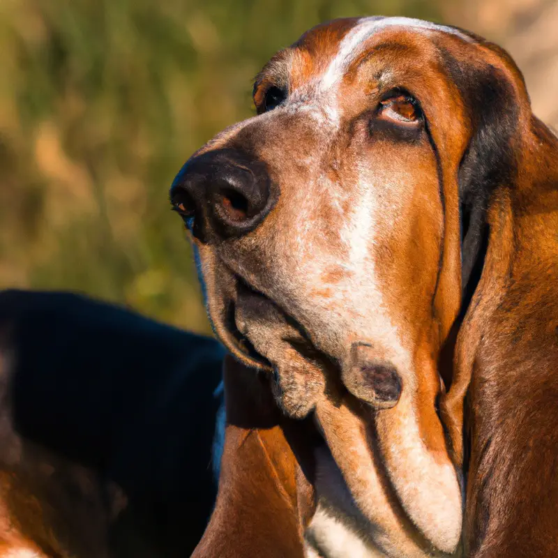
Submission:
{"label": "basset hound's face with white blaze, black nose and hanging jowls, without ears", "polygon": [[254,101],[171,190],[214,329],[289,416],[315,412],[380,548],[453,552],[439,359],[530,114],[519,70],[459,29],[336,20],[273,56]]}

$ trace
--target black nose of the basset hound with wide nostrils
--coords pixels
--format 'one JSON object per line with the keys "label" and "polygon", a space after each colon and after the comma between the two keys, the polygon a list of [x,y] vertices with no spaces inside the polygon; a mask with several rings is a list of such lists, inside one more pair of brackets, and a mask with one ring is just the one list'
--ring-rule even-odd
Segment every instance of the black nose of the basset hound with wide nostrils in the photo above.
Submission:
{"label": "black nose of the basset hound with wide nostrils", "polygon": [[195,236],[240,236],[255,229],[272,206],[265,163],[236,149],[188,160],[170,189],[171,203]]}

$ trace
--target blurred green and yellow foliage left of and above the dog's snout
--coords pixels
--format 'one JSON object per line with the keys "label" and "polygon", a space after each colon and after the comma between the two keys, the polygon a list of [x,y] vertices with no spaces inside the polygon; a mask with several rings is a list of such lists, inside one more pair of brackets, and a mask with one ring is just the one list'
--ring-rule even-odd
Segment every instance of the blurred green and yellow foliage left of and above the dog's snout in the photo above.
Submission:
{"label": "blurred green and yellow foliage left of and above the dog's snout", "polygon": [[209,331],[167,191],[252,114],[252,78],[344,15],[419,0],[1,0],[0,287],[75,289]]}

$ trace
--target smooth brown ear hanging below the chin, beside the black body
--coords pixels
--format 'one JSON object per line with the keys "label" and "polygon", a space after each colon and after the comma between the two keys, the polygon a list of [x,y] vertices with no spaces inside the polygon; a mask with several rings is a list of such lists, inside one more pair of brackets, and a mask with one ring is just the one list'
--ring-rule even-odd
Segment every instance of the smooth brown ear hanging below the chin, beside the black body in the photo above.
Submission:
{"label": "smooth brown ear hanging below the chin, beside the black body", "polygon": [[313,494],[287,442],[301,426],[289,428],[269,380],[232,356],[225,359],[224,381],[227,421],[217,502],[193,558],[303,558]]}

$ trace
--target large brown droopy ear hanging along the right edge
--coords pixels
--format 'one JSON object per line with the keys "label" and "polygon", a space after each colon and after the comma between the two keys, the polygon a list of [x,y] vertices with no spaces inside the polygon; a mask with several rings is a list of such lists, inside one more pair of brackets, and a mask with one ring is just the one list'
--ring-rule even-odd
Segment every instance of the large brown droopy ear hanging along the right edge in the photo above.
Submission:
{"label": "large brown droopy ear hanging along the right edge", "polygon": [[508,56],[483,49],[501,77],[499,96],[479,99],[494,111],[483,135],[494,141],[471,163],[490,171],[486,191],[471,198],[485,200],[485,248],[478,250],[478,282],[475,271],[469,279],[474,292],[442,410],[460,438],[467,393],[467,556],[555,556],[558,138],[532,114]]}

